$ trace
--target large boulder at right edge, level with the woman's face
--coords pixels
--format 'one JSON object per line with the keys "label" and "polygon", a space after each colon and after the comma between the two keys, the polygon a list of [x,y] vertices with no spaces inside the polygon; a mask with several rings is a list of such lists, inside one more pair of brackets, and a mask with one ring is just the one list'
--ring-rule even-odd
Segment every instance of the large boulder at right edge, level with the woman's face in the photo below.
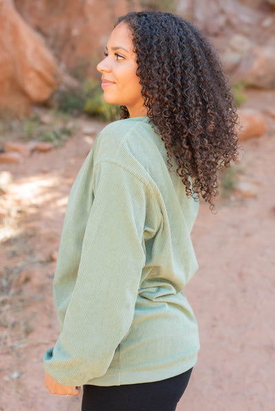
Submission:
{"label": "large boulder at right edge, level with the woman's face", "polygon": [[234,82],[245,80],[261,89],[275,89],[275,38],[266,46],[254,46],[233,73]]}

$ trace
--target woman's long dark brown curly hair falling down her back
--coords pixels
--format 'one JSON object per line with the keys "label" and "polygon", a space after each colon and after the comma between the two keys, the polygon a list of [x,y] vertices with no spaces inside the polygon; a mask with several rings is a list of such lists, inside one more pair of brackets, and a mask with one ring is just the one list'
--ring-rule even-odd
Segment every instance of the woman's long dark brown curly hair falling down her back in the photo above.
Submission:
{"label": "woman's long dark brown curly hair falling down her back", "polygon": [[[166,12],[130,12],[137,75],[147,115],[165,143],[171,171],[188,197],[214,208],[217,172],[237,160],[236,107],[221,63],[210,42],[180,16]],[[121,106],[121,118],[129,117]],[[192,179],[192,185],[190,183]]]}

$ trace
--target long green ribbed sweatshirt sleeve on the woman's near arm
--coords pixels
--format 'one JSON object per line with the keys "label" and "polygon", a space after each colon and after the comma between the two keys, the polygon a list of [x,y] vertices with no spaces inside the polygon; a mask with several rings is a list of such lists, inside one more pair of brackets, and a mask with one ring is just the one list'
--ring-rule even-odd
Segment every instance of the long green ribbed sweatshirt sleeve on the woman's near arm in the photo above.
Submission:
{"label": "long green ribbed sweatshirt sleeve on the woman's near arm", "polygon": [[144,182],[124,167],[96,165],[76,283],[61,334],[44,356],[45,371],[60,384],[80,386],[104,375],[131,326],[145,263],[147,195]]}

